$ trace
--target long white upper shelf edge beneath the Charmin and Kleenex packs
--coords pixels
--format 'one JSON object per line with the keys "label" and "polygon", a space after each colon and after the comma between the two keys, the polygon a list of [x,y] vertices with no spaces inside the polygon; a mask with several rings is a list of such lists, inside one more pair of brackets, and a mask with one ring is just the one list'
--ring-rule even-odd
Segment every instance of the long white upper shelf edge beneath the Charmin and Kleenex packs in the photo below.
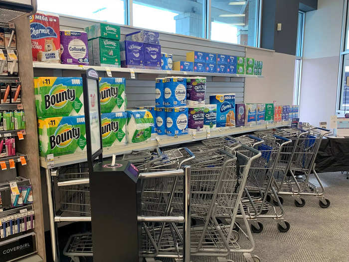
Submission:
{"label": "long white upper shelf edge beneath the Charmin and Kleenex packs", "polygon": [[157,74],[157,75],[195,75],[195,76],[224,76],[224,77],[251,77],[262,78],[263,75],[245,75],[245,74],[222,74],[222,73],[207,73],[207,72],[186,72],[173,70],[156,70],[156,69],[141,69],[141,68],[123,68],[123,67],[105,67],[105,66],[90,66],[90,65],[70,65],[70,64],[54,64],[33,62],[34,68],[46,69],[62,69],[62,70],[87,70],[93,68],[96,71],[123,72],[123,73],[140,73],[140,74]]}

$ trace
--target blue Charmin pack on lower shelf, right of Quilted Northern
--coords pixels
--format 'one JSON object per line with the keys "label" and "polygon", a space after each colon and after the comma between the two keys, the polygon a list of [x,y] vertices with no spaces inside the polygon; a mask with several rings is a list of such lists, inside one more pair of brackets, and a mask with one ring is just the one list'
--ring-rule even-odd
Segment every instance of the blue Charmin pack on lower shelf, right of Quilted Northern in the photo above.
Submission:
{"label": "blue Charmin pack on lower shelf, right of Quilted Northern", "polygon": [[210,95],[209,103],[217,105],[217,127],[235,126],[235,94]]}

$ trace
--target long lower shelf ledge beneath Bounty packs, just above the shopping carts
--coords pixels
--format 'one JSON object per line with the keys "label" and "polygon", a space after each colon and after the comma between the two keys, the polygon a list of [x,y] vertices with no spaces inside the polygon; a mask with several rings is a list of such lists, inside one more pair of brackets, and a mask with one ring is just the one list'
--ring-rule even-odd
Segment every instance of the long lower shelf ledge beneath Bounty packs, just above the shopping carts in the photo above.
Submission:
{"label": "long lower shelf ledge beneath Bounty packs, just above the shopping carts", "polygon": [[[121,155],[130,153],[132,151],[154,149],[156,147],[171,146],[177,144],[183,144],[193,141],[199,141],[207,138],[215,138],[227,135],[237,135],[241,133],[254,132],[259,130],[266,130],[275,127],[290,126],[291,121],[283,121],[277,124],[263,124],[252,127],[237,127],[237,128],[217,128],[210,131],[208,134],[206,131],[200,131],[193,136],[193,134],[181,135],[178,137],[169,136],[156,136],[153,135],[151,139],[137,144],[126,144],[118,147],[103,148],[103,158],[111,157],[113,154]],[[46,157],[40,157],[40,166],[43,168],[55,168],[60,166],[71,165],[75,163],[81,163],[87,161],[86,152],[80,152],[70,155],[54,157],[53,161],[48,161]]]}

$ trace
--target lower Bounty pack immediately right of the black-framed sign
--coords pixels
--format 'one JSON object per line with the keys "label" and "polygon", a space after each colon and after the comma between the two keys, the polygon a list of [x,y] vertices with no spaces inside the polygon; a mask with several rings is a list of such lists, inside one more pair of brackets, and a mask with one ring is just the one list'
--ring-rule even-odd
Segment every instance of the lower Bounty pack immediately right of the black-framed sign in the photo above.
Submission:
{"label": "lower Bounty pack immediately right of the black-framed sign", "polygon": [[126,144],[126,122],[125,112],[101,114],[103,147]]}

